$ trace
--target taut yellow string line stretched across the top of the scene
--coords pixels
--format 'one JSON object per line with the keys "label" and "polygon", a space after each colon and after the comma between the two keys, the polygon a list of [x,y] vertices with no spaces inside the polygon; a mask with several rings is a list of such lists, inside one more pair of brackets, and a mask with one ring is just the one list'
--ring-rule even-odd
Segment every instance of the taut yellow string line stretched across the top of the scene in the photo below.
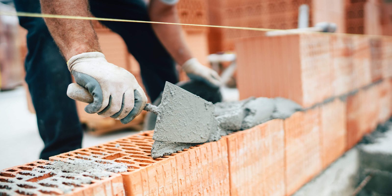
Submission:
{"label": "taut yellow string line stretched across the top of the scene", "polygon": [[[76,20],[100,20],[100,21],[116,21],[116,22],[138,22],[138,23],[150,23],[150,24],[172,24],[172,25],[184,25],[184,26],[241,29],[241,30],[250,30],[250,31],[288,31],[288,32],[296,33],[296,34],[299,34],[299,33],[328,33],[328,32],[300,31],[300,29],[296,29],[296,30],[292,30],[292,29],[266,29],[266,28],[254,28],[254,27],[232,27],[232,26],[221,26],[221,25],[183,24],[183,23],[172,23],[172,22],[152,22],[152,21],[143,21],[143,20],[125,20],[125,19],[98,18],[98,17],[87,17],[87,16],[53,15],[53,14],[28,13],[28,12],[0,11],[0,15],[25,16],[25,17],[35,17],[35,18],[63,18],[63,19],[76,19]],[[345,34],[345,35],[371,36],[371,37],[387,36],[387,35],[370,35],[370,34],[353,34],[353,33],[332,33],[332,34]]]}

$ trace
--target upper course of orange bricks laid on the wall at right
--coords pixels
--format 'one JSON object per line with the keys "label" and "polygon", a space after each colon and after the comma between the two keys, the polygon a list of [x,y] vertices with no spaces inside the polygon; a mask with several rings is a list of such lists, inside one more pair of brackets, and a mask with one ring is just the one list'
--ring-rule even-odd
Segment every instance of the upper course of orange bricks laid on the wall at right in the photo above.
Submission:
{"label": "upper course of orange bricks laid on the wall at right", "polygon": [[310,107],[389,77],[391,48],[388,37],[311,33],[245,38],[236,49],[240,98],[281,96]]}

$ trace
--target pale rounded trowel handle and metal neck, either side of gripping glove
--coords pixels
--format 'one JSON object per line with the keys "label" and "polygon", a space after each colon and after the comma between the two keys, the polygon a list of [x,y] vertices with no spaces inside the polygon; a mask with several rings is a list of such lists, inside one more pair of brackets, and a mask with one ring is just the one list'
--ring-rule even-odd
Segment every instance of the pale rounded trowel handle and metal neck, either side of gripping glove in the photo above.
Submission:
{"label": "pale rounded trowel handle and metal neck, either side of gripping glove", "polygon": [[[93,103],[94,98],[90,94],[89,90],[85,87],[82,87],[78,83],[70,83],[67,89],[67,95],[76,101],[84,102],[84,103]],[[152,105],[151,103],[147,103],[143,110],[152,112],[158,115],[158,107]]]}

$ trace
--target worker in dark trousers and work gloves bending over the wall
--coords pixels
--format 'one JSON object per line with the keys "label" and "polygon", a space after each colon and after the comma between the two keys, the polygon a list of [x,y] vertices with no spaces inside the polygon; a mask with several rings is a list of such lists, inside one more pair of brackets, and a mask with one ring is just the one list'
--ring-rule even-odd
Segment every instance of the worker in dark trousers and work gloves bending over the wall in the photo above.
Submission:
{"label": "worker in dark trousers and work gloves bending over the wall", "polygon": [[[54,15],[96,16],[156,22],[179,22],[178,0],[14,0],[16,10]],[[147,98],[129,71],[107,62],[89,20],[19,17],[28,30],[26,77],[45,147],[40,158],[81,148],[82,127],[74,100],[66,96],[73,74],[94,102],[87,113],[129,123],[142,111]],[[44,21],[45,20],[45,21]],[[179,25],[102,21],[122,36],[140,64],[143,84],[151,100],[165,81],[176,83],[175,62],[189,77],[219,85],[218,74],[193,58]],[[65,60],[64,60],[65,59]],[[67,62],[67,63],[66,63]]]}

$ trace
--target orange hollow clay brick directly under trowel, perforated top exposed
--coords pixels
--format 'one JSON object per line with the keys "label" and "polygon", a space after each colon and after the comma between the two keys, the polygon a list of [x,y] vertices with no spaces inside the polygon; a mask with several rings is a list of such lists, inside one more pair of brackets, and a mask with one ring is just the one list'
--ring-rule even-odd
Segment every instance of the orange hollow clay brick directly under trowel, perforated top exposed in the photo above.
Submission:
{"label": "orange hollow clay brick directly under trowel, perforated top exposed", "polygon": [[163,158],[150,156],[153,131],[53,156],[50,160],[97,158],[125,163],[125,192],[136,195],[229,195],[227,142],[204,143]]}

